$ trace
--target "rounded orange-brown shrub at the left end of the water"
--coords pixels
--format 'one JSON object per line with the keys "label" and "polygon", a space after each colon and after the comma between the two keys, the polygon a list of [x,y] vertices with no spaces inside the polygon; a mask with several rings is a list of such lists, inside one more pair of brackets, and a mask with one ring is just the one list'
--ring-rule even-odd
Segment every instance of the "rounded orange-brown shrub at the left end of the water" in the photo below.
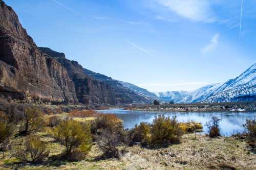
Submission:
{"label": "rounded orange-brown shrub at the left end of the water", "polygon": [[122,131],[122,120],[114,114],[100,114],[92,122],[92,133],[100,133],[103,129],[109,129],[109,131]]}

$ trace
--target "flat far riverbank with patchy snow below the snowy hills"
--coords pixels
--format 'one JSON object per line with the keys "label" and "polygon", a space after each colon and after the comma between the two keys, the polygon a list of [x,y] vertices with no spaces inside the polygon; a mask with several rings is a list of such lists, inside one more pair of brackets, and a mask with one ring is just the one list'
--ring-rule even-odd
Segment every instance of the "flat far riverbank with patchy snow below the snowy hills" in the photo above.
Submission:
{"label": "flat far riverbank with patchy snow below the snowy hills", "polygon": [[133,105],[126,110],[137,111],[179,111],[179,112],[256,112],[255,102],[246,103],[195,103],[195,104],[162,104],[162,105]]}

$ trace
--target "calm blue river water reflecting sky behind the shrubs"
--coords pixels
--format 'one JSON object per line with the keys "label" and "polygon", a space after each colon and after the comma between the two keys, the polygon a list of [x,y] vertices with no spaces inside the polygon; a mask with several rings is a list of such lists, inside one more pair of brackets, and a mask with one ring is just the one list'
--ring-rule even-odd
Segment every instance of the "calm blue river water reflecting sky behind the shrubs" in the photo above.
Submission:
{"label": "calm blue river water reflecting sky behind the shrubs", "polygon": [[150,111],[129,111],[122,109],[112,109],[112,110],[100,110],[101,113],[112,113],[116,114],[117,117],[123,120],[124,128],[133,128],[136,124],[141,122],[152,123],[153,119],[159,115],[164,114],[166,116],[177,116],[179,122],[195,121],[205,123],[209,121],[210,117],[215,115],[221,118],[220,128],[221,134],[225,136],[230,136],[233,130],[244,131],[243,124],[246,119],[254,119],[256,116],[255,112],[243,112],[243,113],[233,113],[233,112],[150,112]]}

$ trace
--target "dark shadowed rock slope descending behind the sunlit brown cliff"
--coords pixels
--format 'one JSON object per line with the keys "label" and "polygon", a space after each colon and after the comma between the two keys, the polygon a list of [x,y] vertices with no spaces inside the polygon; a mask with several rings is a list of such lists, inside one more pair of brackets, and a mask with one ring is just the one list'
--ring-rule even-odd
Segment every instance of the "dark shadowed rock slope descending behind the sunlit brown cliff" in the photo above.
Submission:
{"label": "dark shadowed rock slope descending behind the sunlit brown cliff", "polygon": [[110,77],[101,74],[95,76],[95,72],[83,68],[78,62],[70,61],[65,57],[59,56],[61,53],[46,47],[39,48],[46,56],[56,59],[67,69],[69,77],[75,84],[76,96],[79,103],[88,105],[123,105],[150,102]]}

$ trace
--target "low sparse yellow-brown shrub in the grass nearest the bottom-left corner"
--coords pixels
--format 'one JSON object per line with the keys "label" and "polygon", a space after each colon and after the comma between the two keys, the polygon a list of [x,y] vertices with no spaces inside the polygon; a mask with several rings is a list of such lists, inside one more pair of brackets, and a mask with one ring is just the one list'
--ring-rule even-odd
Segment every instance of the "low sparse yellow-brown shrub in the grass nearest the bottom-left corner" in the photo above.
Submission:
{"label": "low sparse yellow-brown shrub in the grass nearest the bottom-left corner", "polygon": [[41,141],[38,136],[28,136],[25,142],[25,149],[16,152],[15,157],[26,162],[41,162],[49,155],[46,151],[46,142]]}

